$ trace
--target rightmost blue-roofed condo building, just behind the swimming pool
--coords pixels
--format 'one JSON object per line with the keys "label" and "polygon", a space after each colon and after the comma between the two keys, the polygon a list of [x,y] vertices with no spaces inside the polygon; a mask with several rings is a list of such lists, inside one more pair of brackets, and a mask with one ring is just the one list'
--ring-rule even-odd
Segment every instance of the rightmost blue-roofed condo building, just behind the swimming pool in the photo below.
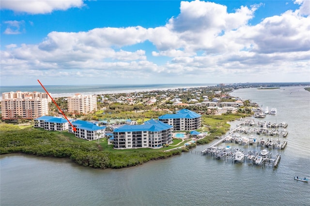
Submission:
{"label": "rightmost blue-roofed condo building, just behind the swimming pool", "polygon": [[174,131],[192,131],[197,130],[201,126],[200,114],[182,109],[176,114],[166,114],[158,117],[158,119],[166,124],[172,125]]}

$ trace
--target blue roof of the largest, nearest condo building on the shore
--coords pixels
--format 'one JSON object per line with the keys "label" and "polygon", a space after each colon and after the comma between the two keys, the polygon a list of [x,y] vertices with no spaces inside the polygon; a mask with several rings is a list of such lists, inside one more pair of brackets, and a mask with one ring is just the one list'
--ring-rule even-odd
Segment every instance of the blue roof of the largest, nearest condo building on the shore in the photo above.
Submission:
{"label": "blue roof of the largest, nearest condo building on the shore", "polygon": [[160,132],[171,128],[172,126],[169,124],[163,123],[159,120],[150,119],[148,121],[145,121],[144,124],[124,125],[122,127],[114,129],[114,132],[140,132],[140,131]]}

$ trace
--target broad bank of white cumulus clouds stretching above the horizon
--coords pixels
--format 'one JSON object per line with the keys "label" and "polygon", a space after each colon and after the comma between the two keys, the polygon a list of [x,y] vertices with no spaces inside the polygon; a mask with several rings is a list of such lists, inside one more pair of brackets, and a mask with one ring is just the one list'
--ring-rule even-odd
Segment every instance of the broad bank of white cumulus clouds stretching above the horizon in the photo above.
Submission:
{"label": "broad bank of white cumulus clouds stretching above the horizon", "polygon": [[[195,0],[182,1],[180,14],[160,27],[53,31],[39,44],[4,45],[1,79],[83,74],[96,83],[169,82],[171,76],[180,81],[255,82],[264,75],[264,81],[272,82],[281,74],[277,81],[310,81],[310,16],[303,11],[308,2],[296,0],[296,11],[256,25],[248,22],[260,5],[229,13],[224,5]],[[154,45],[149,51],[139,48],[146,41]]]}

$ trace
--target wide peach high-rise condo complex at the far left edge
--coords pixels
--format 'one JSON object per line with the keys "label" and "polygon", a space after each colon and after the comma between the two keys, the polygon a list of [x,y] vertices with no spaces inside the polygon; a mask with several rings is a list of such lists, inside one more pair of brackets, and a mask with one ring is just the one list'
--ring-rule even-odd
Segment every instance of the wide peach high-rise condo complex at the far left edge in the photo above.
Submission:
{"label": "wide peach high-rise condo complex at the far left edge", "polygon": [[31,95],[24,95],[22,98],[10,96],[1,101],[2,120],[34,119],[45,115],[48,115],[47,98],[32,98]]}

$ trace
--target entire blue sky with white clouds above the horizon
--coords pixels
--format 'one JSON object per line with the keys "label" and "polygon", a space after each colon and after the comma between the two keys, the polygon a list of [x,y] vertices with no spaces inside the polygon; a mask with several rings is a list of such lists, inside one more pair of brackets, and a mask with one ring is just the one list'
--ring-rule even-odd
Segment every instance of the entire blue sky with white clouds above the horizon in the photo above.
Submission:
{"label": "entire blue sky with white clouds above the horizon", "polygon": [[0,85],[310,82],[310,0],[1,0]]}

